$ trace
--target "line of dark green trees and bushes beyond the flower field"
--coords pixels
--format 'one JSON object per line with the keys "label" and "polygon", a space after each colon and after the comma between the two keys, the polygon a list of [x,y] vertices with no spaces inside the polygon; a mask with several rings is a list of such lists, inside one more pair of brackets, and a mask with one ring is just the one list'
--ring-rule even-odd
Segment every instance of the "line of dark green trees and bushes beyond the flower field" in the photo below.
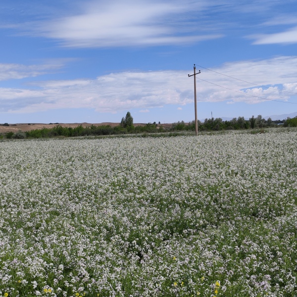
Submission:
{"label": "line of dark green trees and bushes beyond the flower field", "polygon": [[[261,115],[252,116],[248,120],[244,117],[233,118],[230,121],[223,121],[221,118],[206,118],[204,122],[198,120],[199,131],[219,131],[219,130],[240,130],[254,128],[276,127],[278,124],[283,124],[285,127],[297,127],[297,117],[287,118],[286,120],[272,121],[271,118],[265,120]],[[5,123],[5,126],[8,124]],[[9,126],[9,125],[8,125]],[[159,124],[148,123],[143,126],[135,126],[133,117],[130,112],[127,112],[126,117],[123,117],[118,126],[111,127],[110,125],[83,127],[82,125],[75,128],[62,127],[57,125],[52,128],[36,129],[31,131],[7,132],[0,134],[0,139],[24,139],[24,138],[53,138],[53,137],[78,137],[78,136],[100,136],[100,135],[121,135],[121,134],[144,134],[144,133],[164,133],[172,131],[195,131],[195,121],[185,123],[178,121],[173,123],[171,127],[164,128]]]}

